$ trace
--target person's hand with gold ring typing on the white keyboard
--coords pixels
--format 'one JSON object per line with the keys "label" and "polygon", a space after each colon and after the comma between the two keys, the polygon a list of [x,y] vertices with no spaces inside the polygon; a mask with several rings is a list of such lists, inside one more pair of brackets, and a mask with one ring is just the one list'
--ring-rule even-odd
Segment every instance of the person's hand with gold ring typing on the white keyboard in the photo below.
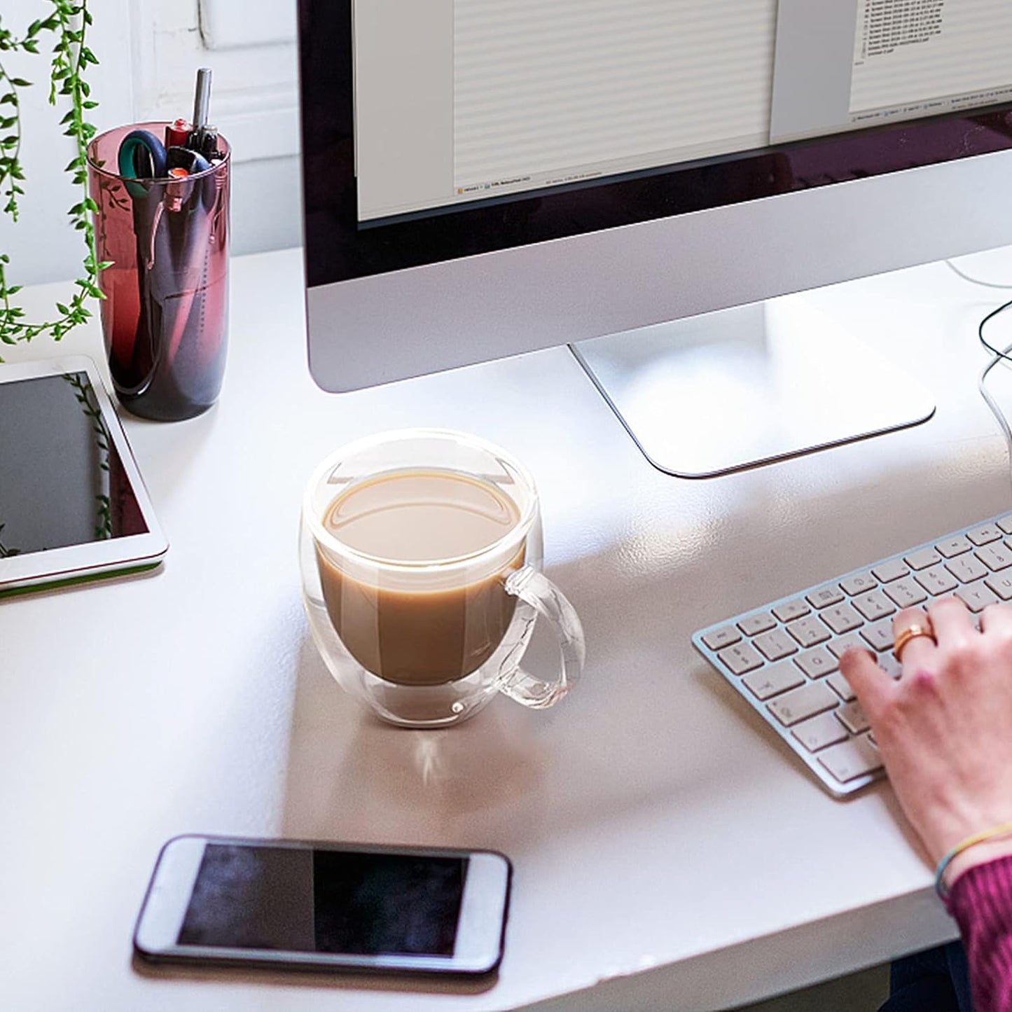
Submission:
{"label": "person's hand with gold ring typing on the white keyboard", "polygon": [[[840,670],[871,725],[904,813],[932,861],[973,833],[1012,821],[1012,606],[991,605],[981,630],[956,597],[928,604],[934,639],[918,636],[891,678],[851,649]],[[893,618],[894,632],[929,624],[920,608]],[[949,882],[974,864],[1012,853],[1012,838],[971,847]]]}

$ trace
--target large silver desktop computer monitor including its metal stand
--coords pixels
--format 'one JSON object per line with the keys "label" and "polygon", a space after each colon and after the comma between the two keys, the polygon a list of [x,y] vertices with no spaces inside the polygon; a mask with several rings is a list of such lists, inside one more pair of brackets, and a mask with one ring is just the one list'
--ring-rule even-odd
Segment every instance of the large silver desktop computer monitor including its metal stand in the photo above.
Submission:
{"label": "large silver desktop computer monitor including its metal stand", "polygon": [[570,344],[719,474],[933,411],[776,297],[1012,242],[999,0],[300,0],[300,39],[328,391]]}

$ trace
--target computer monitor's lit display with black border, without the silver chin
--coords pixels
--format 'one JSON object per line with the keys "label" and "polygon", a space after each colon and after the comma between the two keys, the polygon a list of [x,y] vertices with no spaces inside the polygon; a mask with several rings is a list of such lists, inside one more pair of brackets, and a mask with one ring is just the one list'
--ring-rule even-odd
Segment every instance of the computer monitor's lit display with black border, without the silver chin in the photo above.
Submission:
{"label": "computer monitor's lit display with black border, without the silver chin", "polygon": [[303,21],[311,285],[1012,147],[998,0],[304,0]]}

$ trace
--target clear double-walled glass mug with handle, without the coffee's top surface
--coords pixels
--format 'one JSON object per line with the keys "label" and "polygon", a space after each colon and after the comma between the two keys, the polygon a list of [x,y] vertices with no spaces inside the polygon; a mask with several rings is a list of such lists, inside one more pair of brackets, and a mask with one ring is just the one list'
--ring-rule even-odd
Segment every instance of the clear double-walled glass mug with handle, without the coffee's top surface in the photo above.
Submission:
{"label": "clear double-walled glass mug with handle, without the coffee's top surface", "polygon": [[[325,523],[335,500],[356,486],[418,473],[492,486],[511,504],[515,522],[480,551],[410,560],[357,551]],[[331,454],[306,488],[300,566],[310,629],[328,669],[393,724],[457,724],[497,692],[543,708],[559,702],[583,670],[580,619],[541,572],[533,480],[512,455],[476,436],[404,429]],[[562,664],[554,678],[520,667],[538,617],[559,640]]]}

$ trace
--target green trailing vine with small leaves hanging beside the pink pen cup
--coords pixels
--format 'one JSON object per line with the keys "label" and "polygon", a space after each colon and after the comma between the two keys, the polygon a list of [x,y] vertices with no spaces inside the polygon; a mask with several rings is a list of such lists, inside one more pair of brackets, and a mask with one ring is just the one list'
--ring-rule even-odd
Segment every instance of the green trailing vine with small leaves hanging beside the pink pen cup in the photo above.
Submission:
{"label": "green trailing vine with small leaves hanging beside the pink pen cup", "polygon": [[59,97],[65,97],[70,102],[70,109],[60,120],[60,125],[64,126],[64,135],[72,138],[76,146],[75,156],[66,171],[78,187],[81,199],[67,214],[84,239],[83,271],[74,282],[74,293],[69,303],[57,303],[57,316],[41,323],[29,323],[24,310],[12,302],[12,297],[21,286],[8,283],[10,257],[7,253],[0,253],[0,341],[5,344],[30,341],[44,333],[59,341],[68,331],[87,320],[91,311],[85,303],[89,298],[102,298],[97,284],[98,272],[108,266],[108,263],[98,262],[91,223],[91,214],[97,207],[88,194],[87,147],[95,136],[95,128],[85,117],[90,109],[98,105],[90,97],[91,89],[84,79],[88,65],[98,63],[85,44],[92,15],[88,10],[88,0],[51,0],[51,3],[53,13],[32,21],[19,36],[4,26],[0,16],[0,200],[3,201],[2,213],[16,222],[18,200],[24,194],[21,183],[25,181],[20,162],[20,91],[30,86],[30,82],[7,72],[4,55],[37,54],[44,36],[50,34],[54,40],[50,59],[50,104],[56,105]]}

